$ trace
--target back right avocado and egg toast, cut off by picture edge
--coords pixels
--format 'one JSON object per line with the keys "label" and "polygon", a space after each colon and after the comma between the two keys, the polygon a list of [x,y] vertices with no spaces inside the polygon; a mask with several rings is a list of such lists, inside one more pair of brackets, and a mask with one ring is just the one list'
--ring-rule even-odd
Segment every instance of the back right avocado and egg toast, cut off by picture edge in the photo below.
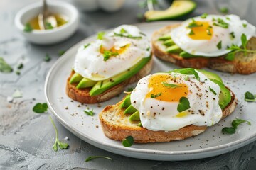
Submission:
{"label": "back right avocado and egg toast, cut off by picture edge", "polygon": [[255,26],[235,15],[205,13],[157,30],[151,42],[156,57],[180,67],[256,72]]}

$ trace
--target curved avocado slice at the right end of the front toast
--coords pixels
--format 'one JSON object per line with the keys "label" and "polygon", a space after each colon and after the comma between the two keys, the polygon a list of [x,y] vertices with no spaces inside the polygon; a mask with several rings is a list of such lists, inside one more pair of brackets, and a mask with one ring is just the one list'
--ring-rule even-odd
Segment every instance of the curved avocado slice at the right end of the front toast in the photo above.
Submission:
{"label": "curved avocado slice at the right end of the front toast", "polygon": [[221,83],[220,81],[216,79],[210,79],[215,84],[218,84],[220,86],[220,95],[219,95],[219,106],[221,109],[228,106],[228,103],[231,101],[231,94],[230,91]]}

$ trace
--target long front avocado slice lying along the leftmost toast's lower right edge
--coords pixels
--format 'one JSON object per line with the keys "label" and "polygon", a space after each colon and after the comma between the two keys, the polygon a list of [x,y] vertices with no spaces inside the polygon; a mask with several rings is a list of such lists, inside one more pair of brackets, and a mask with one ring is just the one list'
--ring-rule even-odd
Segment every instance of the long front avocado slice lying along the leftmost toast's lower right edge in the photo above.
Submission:
{"label": "long front avocado slice lying along the leftmost toast's lower right edge", "polygon": [[139,72],[139,70],[142,69],[142,67],[144,67],[144,65],[146,65],[146,63],[149,62],[149,60],[151,60],[151,56],[143,58],[127,71],[117,74],[117,76],[114,76],[111,79],[98,81],[95,84],[95,86],[93,86],[92,89],[90,90],[90,96],[102,94],[104,91],[106,91],[107,89],[110,89],[112,86],[115,86],[121,83],[122,81],[134,76],[134,74],[137,74],[137,72]]}

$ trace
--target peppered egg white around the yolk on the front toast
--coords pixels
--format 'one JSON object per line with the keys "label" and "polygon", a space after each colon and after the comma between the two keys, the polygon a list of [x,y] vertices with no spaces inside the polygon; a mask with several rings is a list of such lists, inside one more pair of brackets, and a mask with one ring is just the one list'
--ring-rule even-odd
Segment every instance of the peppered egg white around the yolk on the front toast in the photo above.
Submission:
{"label": "peppered egg white around the yolk on the front toast", "polygon": [[[197,72],[197,71],[196,71]],[[171,73],[170,77],[181,78],[176,79],[177,84],[187,84],[190,93],[186,98],[190,103],[190,107],[185,112],[185,116],[178,117],[178,102],[160,101],[156,98],[146,98],[152,89],[148,87],[150,77],[154,77],[156,73],[150,74],[139,80],[136,88],[131,93],[131,102],[134,108],[139,111],[141,123],[144,128],[149,130],[179,130],[186,125],[207,125],[211,126],[218,123],[222,117],[222,110],[218,105],[218,96],[220,94],[220,87],[218,84],[210,81],[204,74],[198,72],[200,81],[189,75],[189,81],[186,80],[186,75]],[[168,83],[174,84],[173,79]],[[200,88],[198,88],[198,87]],[[209,90],[213,89],[216,94]],[[171,96],[171,94],[170,94]],[[201,114],[203,113],[203,115]]]}

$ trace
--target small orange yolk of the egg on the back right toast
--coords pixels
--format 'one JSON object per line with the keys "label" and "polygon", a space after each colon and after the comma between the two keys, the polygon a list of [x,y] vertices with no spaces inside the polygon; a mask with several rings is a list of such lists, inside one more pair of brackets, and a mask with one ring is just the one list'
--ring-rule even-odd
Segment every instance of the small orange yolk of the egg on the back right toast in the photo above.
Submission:
{"label": "small orange yolk of the egg on the back right toast", "polygon": [[206,21],[195,21],[196,26],[189,28],[188,36],[193,40],[210,40],[213,36],[213,27]]}

